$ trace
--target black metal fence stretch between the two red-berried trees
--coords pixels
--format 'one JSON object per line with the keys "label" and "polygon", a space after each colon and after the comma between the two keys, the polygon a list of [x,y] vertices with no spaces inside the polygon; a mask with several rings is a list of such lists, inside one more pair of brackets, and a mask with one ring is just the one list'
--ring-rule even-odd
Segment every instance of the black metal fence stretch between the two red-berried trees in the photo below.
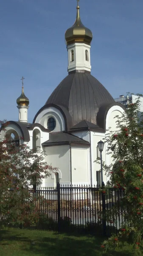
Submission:
{"label": "black metal fence stretch between the two red-berried trees", "polygon": [[40,205],[35,201],[41,214],[38,229],[110,235],[117,233],[123,222],[121,189],[108,189],[104,193],[95,186],[60,186],[58,183],[56,189],[42,188],[34,193],[48,202]]}

